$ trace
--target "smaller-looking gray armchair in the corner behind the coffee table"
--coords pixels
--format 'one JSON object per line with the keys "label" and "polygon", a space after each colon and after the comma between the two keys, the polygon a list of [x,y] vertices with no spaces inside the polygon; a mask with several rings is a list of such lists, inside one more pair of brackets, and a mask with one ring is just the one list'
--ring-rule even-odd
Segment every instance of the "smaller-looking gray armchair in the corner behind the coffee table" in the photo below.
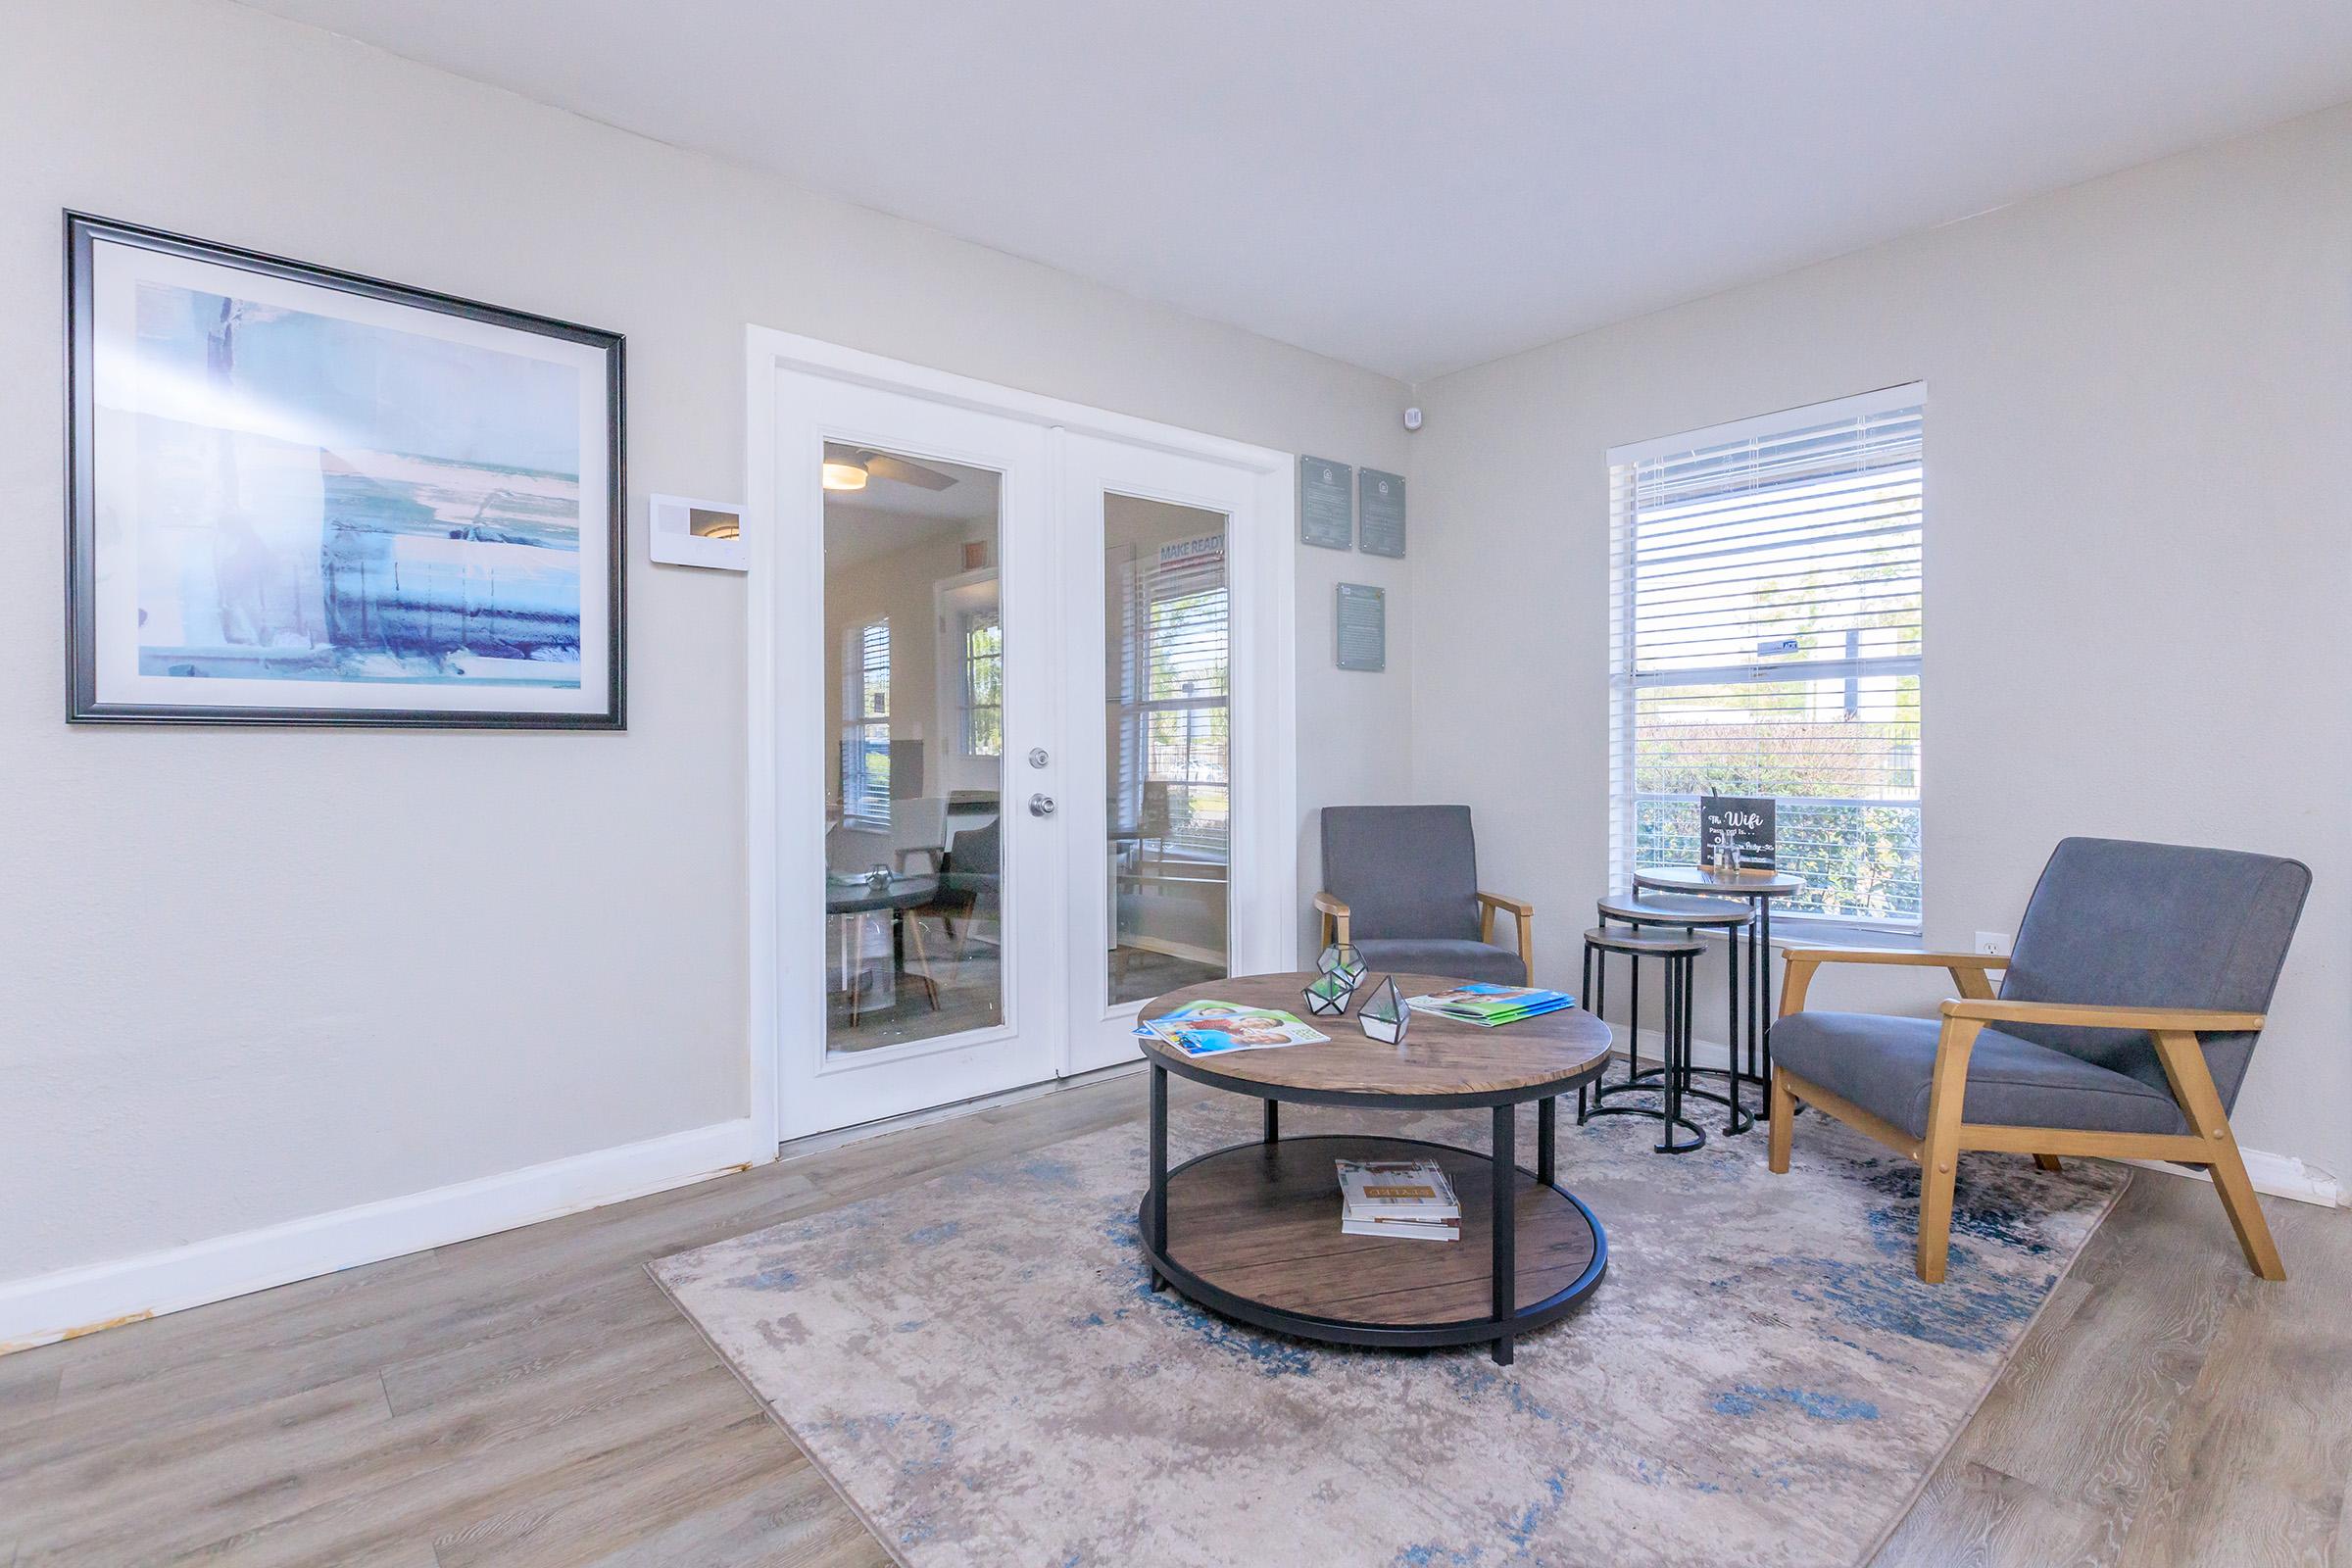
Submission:
{"label": "smaller-looking gray armchair in the corner behind the coffee table", "polygon": [[[1477,886],[1470,806],[1324,806],[1324,943],[1355,943],[1371,969],[1526,985],[1536,905]],[[1508,910],[1519,950],[1496,947]]]}

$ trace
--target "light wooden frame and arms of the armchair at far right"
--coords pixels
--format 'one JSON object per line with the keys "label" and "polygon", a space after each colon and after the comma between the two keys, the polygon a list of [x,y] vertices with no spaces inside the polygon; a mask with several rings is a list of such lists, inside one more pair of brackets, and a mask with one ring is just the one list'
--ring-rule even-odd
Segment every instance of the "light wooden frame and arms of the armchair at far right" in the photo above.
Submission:
{"label": "light wooden frame and arms of the armchair at far right", "polygon": [[[2246,1178],[2246,1159],[2220,1107],[2213,1072],[2206,1067],[2199,1034],[2237,1034],[2263,1027],[2263,1013],[2218,1013],[2171,1006],[2077,1006],[2065,1001],[1997,1001],[1990,971],[2009,969],[2006,957],[1983,952],[1860,952],[1842,947],[1792,947],[1783,954],[1788,973],[1780,985],[1780,1018],[1804,1011],[1813,971],[1823,964],[1903,964],[1943,969],[1959,997],[1943,1004],[1943,1032],[1936,1037],[1936,1067],[1926,1095],[1926,1135],[1912,1138],[1896,1124],[1870,1114],[1818,1084],[1806,1084],[1785,1067],[1771,1077],[1771,1168],[1788,1171],[1788,1147],[1797,1100],[1816,1105],[1846,1126],[1877,1138],[1898,1154],[1919,1161],[1919,1279],[1943,1281],[1952,1244],[1952,1182],[1959,1157],[1971,1150],[2032,1154],[2042,1168],[2056,1171],[2060,1154],[2100,1154],[2107,1159],[2169,1159],[2201,1166],[2213,1175],[2213,1190],[2230,1215],[2230,1229],[2246,1253],[2246,1265],[2263,1279],[2286,1279],[2270,1222]],[[2164,1077],[2190,1124],[2187,1133],[2093,1133],[2053,1126],[1992,1126],[1966,1121],[1962,1107],[1969,1091],[1969,1053],[1985,1025],[2056,1023],[2091,1030],[2147,1030],[2157,1041]]]}

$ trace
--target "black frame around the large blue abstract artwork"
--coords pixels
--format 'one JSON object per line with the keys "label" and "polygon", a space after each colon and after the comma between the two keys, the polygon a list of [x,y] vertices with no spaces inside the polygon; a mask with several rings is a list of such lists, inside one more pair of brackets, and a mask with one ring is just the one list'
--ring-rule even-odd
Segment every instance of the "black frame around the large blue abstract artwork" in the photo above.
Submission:
{"label": "black frame around the large blue abstract artwork", "polygon": [[[160,228],[122,223],[85,212],[64,214],[66,230],[66,719],[73,724],[273,724],[273,726],[350,726],[350,729],[628,729],[628,473],[626,473],[626,339],[619,331],[581,327],[527,310],[508,310],[482,301],[412,289],[407,284],[343,273],[306,261],[289,261],[235,244],[193,240]],[[414,310],[456,315],[489,327],[532,336],[560,339],[602,353],[604,360],[604,447],[607,447],[607,559],[604,559],[604,708],[602,712],[536,710],[447,710],[447,708],[306,708],[306,705],[212,705],[212,703],[125,703],[99,701],[99,625],[96,625],[96,242],[125,244],[167,256],[186,256],[223,268],[280,277],[339,294]],[[586,437],[586,430],[583,430]],[[581,581],[581,607],[590,604],[593,585]],[[143,611],[141,611],[143,614]],[[583,628],[586,630],[586,628]],[[430,686],[419,686],[430,691]]]}

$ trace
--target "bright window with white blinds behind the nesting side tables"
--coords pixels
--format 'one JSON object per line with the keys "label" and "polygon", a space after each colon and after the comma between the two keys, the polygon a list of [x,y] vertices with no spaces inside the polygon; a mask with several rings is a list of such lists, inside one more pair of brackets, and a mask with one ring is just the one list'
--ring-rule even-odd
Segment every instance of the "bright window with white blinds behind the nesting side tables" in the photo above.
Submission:
{"label": "bright window with white blinds behind the nesting side tables", "polygon": [[1609,454],[1618,884],[1769,795],[1776,919],[1919,931],[1924,430],[1907,386]]}

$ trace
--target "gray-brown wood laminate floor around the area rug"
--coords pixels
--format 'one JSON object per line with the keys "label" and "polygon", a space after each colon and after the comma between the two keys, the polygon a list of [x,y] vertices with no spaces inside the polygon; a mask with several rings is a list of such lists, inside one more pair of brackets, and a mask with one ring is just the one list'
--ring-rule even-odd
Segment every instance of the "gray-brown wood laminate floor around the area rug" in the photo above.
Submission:
{"label": "gray-brown wood laminate floor around the area rug", "polygon": [[[5,1356],[0,1568],[887,1563],[640,1265],[1141,1110],[1112,1079]],[[1877,1561],[2352,1566],[2352,1215],[2265,1211],[2284,1286],[2136,1173]]]}

